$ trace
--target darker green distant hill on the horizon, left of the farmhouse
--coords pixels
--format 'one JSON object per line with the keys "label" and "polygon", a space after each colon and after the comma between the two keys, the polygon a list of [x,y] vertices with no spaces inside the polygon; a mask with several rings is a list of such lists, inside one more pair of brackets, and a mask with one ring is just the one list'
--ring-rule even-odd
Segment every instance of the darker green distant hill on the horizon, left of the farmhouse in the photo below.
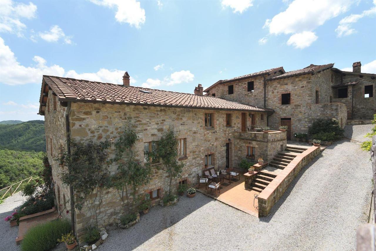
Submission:
{"label": "darker green distant hill on the horizon, left of the farmhouse", "polygon": [[44,121],[0,124],[0,148],[45,152]]}

